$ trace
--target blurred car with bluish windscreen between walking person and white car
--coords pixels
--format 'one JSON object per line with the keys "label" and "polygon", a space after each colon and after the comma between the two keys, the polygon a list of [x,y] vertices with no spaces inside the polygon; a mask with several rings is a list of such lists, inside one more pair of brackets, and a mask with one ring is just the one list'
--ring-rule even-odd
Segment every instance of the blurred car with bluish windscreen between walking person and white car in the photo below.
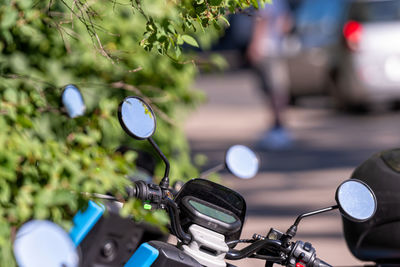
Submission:
{"label": "blurred car with bluish windscreen between walking person and white car", "polygon": [[328,93],[343,2],[306,0],[294,14],[294,28],[285,44],[292,102],[300,96]]}

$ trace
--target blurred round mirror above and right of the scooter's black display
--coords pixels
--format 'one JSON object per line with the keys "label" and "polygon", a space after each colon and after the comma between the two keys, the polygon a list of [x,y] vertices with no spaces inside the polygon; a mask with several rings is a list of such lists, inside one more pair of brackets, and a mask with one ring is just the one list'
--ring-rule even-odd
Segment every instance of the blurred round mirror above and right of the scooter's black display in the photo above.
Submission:
{"label": "blurred round mirror above and right of the scooter's black display", "polygon": [[225,165],[236,177],[249,179],[258,172],[258,158],[247,146],[231,146],[225,155]]}

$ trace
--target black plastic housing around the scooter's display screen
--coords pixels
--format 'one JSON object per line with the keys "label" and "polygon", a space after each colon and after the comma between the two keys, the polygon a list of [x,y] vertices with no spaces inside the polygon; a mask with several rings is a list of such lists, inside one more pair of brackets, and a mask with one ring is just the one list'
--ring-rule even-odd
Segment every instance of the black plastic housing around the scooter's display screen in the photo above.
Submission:
{"label": "black plastic housing around the scooter's display screen", "polygon": [[188,181],[175,198],[175,202],[181,209],[180,221],[182,228],[187,232],[189,226],[192,225],[194,221],[191,216],[188,216],[189,214],[185,212],[185,209],[182,208],[183,200],[186,196],[204,200],[208,203],[232,212],[240,220],[240,226],[234,231],[225,233],[225,241],[229,242],[240,238],[246,216],[246,201],[239,193],[205,179],[197,178]]}

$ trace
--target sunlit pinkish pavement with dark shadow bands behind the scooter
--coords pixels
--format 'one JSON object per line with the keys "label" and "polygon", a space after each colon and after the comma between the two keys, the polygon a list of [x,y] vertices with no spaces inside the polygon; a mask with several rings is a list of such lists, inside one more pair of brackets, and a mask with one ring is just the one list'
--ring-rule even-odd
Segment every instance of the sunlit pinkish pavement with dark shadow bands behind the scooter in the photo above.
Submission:
{"label": "sunlit pinkish pavement with dark shadow bands behind the scooter", "polygon": [[[190,115],[185,125],[193,154],[220,163],[224,150],[241,143],[254,144],[270,121],[262,95],[250,72],[203,75],[195,87],[208,102]],[[290,108],[287,121],[295,139],[286,151],[261,151],[261,171],[243,181],[223,173],[223,183],[247,201],[248,218],[242,237],[266,234],[270,227],[285,231],[301,212],[335,203],[337,185],[373,153],[400,146],[400,114],[346,115],[312,105]],[[297,238],[311,242],[318,257],[334,266],[359,264],[348,251],[338,212],[306,218]],[[260,260],[236,262],[239,266],[264,266]]]}

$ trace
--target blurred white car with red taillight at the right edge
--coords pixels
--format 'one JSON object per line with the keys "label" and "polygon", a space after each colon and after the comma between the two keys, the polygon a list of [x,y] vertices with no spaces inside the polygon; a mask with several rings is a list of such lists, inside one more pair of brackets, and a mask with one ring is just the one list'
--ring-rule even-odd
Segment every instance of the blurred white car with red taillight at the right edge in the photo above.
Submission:
{"label": "blurred white car with red taillight at the right edge", "polygon": [[343,36],[337,98],[346,105],[400,100],[400,1],[352,2]]}

